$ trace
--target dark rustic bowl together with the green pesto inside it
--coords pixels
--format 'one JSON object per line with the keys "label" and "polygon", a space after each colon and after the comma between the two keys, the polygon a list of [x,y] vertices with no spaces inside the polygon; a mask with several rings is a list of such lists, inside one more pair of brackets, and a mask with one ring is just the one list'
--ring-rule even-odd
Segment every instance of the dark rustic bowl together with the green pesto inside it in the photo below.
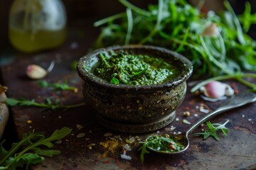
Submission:
{"label": "dark rustic bowl together with the green pesto inside it", "polygon": [[81,57],[77,70],[85,102],[100,125],[141,133],[174,120],[193,67],[186,57],[163,47],[117,45]]}

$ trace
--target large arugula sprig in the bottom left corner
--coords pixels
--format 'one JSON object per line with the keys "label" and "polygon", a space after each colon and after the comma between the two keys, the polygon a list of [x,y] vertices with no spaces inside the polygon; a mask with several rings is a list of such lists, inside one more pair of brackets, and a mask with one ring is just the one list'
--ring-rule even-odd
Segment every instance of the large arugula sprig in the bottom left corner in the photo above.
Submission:
{"label": "large arugula sprig in the bottom left corner", "polygon": [[24,133],[20,142],[13,143],[11,149],[7,151],[3,144],[0,145],[0,169],[16,169],[16,167],[23,167],[26,169],[30,164],[39,164],[44,161],[44,157],[53,157],[60,154],[59,150],[41,149],[42,146],[52,148],[53,141],[61,140],[63,137],[70,134],[72,129],[62,128],[55,130],[50,137],[45,137],[44,132],[28,132]]}

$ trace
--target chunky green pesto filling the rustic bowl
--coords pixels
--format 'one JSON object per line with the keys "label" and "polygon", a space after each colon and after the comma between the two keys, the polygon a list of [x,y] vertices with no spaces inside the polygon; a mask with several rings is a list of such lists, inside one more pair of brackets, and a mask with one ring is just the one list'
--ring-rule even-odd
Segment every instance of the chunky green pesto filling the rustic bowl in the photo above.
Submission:
{"label": "chunky green pesto filling the rustic bowl", "polygon": [[100,65],[94,69],[97,77],[112,84],[150,85],[161,84],[174,78],[174,65],[149,55],[127,55],[122,52],[100,53]]}

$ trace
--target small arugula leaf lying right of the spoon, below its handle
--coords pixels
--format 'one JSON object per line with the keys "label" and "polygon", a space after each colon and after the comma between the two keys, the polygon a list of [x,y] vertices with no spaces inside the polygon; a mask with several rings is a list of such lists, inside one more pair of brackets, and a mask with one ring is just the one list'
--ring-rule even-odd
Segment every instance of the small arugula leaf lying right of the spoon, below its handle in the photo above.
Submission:
{"label": "small arugula leaf lying right of the spoon, below its handle", "polygon": [[203,135],[203,140],[206,140],[208,137],[212,136],[215,140],[220,140],[220,137],[218,136],[218,131],[221,130],[224,135],[227,135],[228,128],[225,127],[225,125],[229,122],[227,120],[225,123],[210,123],[210,121],[206,122],[207,129],[204,132],[197,132],[193,135]]}

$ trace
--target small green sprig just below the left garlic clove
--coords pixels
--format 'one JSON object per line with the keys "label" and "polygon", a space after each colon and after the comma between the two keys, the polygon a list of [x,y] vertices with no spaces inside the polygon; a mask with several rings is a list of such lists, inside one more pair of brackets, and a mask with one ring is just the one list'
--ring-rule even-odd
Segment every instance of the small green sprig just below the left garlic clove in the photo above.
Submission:
{"label": "small green sprig just below the left garlic clove", "polygon": [[69,91],[74,91],[75,93],[78,93],[78,88],[77,87],[68,86],[68,84],[66,82],[63,82],[63,83],[48,83],[47,81],[39,81],[38,85],[40,85],[42,87],[51,87],[55,91],[57,91],[57,90],[60,90],[60,91],[69,90]]}

